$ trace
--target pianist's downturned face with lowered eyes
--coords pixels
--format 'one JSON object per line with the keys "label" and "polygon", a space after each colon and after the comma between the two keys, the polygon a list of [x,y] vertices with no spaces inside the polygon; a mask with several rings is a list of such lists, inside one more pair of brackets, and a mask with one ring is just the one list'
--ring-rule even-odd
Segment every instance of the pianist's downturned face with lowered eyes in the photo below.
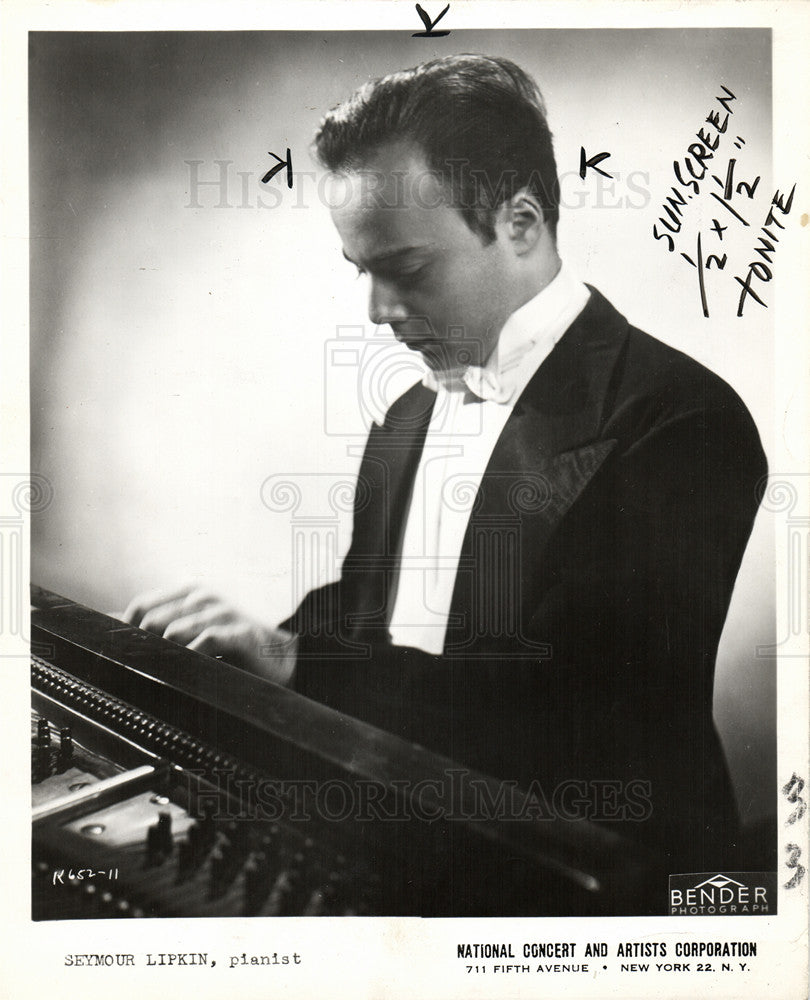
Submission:
{"label": "pianist's downturned face with lowered eyes", "polygon": [[403,144],[335,177],[331,203],[344,256],[368,276],[372,323],[389,324],[434,370],[483,364],[513,308],[504,239],[484,246]]}

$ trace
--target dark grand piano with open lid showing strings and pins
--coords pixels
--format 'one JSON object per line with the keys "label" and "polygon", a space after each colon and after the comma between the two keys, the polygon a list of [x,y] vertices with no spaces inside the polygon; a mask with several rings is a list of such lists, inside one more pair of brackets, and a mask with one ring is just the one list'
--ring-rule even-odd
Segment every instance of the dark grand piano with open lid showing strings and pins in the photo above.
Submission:
{"label": "dark grand piano with open lid showing strings and pins", "polygon": [[609,825],[38,587],[31,636],[36,920],[661,912]]}

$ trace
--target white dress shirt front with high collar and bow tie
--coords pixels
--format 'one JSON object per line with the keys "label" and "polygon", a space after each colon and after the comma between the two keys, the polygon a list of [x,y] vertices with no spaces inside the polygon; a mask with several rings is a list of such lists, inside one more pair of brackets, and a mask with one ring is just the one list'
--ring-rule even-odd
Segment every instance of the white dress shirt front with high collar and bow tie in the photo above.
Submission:
{"label": "white dress shirt front with high collar and bow tie", "polygon": [[[501,330],[482,368],[461,379],[427,372],[436,391],[414,478],[389,631],[395,646],[440,655],[470,511],[495,444],[520,394],[590,293],[563,265]],[[479,397],[471,400],[471,395]],[[479,401],[480,400],[480,401]]]}

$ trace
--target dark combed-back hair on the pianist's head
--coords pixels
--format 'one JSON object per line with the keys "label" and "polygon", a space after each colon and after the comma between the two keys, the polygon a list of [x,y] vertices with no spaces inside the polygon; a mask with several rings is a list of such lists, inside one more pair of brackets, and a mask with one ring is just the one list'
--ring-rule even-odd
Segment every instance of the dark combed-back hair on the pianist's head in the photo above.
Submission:
{"label": "dark combed-back hair on the pianist's head", "polygon": [[314,140],[333,172],[360,169],[391,142],[418,146],[485,244],[500,205],[527,188],[556,236],[560,189],[543,97],[508,59],[454,55],[365,84],[333,108]]}

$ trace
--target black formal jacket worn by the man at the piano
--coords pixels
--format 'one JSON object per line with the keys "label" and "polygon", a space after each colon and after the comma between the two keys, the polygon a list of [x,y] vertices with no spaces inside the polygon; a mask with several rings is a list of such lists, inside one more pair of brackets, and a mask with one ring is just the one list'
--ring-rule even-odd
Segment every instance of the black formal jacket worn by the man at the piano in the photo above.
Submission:
{"label": "black formal jacket worn by the man at the piano", "polygon": [[727,866],[714,660],[766,474],[745,406],[591,289],[496,444],[429,656],[391,645],[387,608],[435,398],[414,386],[370,433],[341,579],[284,623],[295,687],[549,800],[636,782],[625,833],[671,871]]}

